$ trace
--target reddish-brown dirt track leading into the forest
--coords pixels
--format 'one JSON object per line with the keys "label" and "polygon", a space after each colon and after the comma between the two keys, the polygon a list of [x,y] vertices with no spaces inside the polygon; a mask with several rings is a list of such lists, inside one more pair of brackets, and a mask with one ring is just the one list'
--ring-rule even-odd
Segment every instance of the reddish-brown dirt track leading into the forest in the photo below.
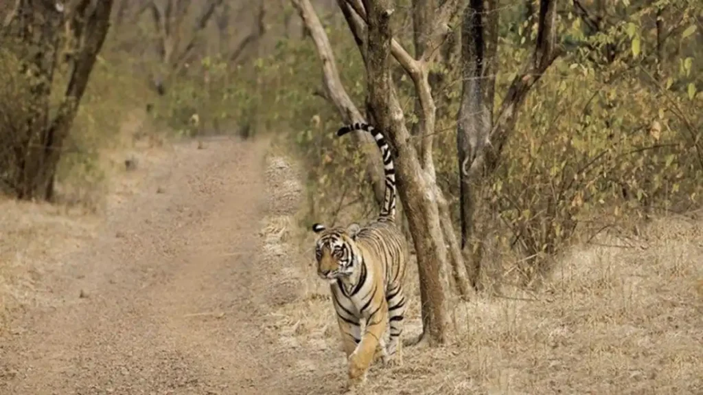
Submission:
{"label": "reddish-brown dirt track leading into the forest", "polygon": [[266,306],[296,297],[275,280],[285,259],[258,258],[261,219],[286,209],[266,200],[266,145],[206,144],[176,145],[46,276],[55,306],[0,338],[0,394],[325,393],[295,373],[314,355],[266,330]]}

